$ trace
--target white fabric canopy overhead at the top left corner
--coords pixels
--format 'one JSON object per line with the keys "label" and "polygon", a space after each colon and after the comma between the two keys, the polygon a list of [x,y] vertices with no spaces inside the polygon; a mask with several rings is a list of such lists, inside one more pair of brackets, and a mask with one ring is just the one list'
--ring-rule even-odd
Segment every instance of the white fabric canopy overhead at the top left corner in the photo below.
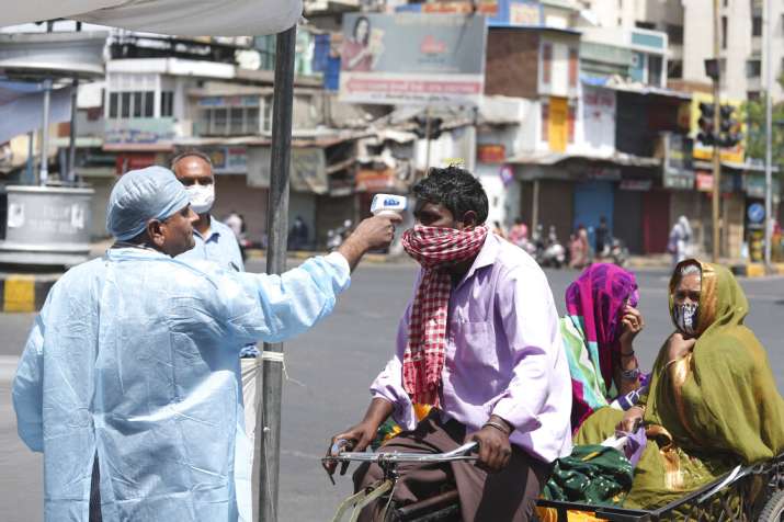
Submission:
{"label": "white fabric canopy overhead at the top left corner", "polygon": [[302,0],[16,0],[0,26],[70,19],[179,36],[260,36],[293,26]]}

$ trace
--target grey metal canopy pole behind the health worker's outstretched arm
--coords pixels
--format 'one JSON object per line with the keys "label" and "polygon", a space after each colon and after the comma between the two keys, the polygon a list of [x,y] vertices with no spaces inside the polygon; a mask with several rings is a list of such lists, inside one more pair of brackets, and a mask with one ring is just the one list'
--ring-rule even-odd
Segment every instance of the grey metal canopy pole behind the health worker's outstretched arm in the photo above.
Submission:
{"label": "grey metal canopy pole behind the health worker's outstretched arm", "polygon": [[[266,209],[266,272],[286,269],[288,231],[288,169],[292,158],[292,112],[294,106],[294,47],[297,26],[277,35],[275,87],[272,106],[272,150],[270,198]],[[272,352],[272,353],[271,353]],[[280,353],[280,356],[268,356]],[[255,455],[259,458],[258,521],[277,521],[281,465],[281,398],[283,392],[283,343],[264,343],[261,383],[261,415],[257,418]]]}

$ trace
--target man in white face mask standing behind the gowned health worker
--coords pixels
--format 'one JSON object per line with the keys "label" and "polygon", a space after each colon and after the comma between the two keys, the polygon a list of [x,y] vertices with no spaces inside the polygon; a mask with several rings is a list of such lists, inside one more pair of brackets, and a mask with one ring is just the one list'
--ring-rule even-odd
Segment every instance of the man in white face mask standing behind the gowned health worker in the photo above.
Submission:
{"label": "man in white face mask standing behind the gowned health worker", "polygon": [[198,220],[193,224],[196,245],[178,256],[178,259],[206,259],[226,270],[243,272],[237,237],[228,226],[209,214],[215,202],[215,175],[209,157],[197,150],[188,150],[172,160],[171,170],[180,183],[185,185],[191,208],[198,214]]}

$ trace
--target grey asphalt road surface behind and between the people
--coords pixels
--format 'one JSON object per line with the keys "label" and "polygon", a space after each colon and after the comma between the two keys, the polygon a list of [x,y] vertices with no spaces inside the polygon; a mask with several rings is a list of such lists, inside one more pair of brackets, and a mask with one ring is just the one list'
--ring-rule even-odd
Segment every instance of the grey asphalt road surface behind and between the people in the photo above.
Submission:
{"label": "grey asphalt road surface behind and between the people", "polygon": [[[251,270],[262,270],[251,263]],[[333,487],[319,458],[329,438],[359,421],[368,402],[367,386],[393,351],[399,315],[408,300],[416,265],[364,265],[354,275],[334,314],[311,332],[286,344],[283,400],[280,520],[323,521],[349,493],[349,477]],[[564,291],[577,274],[550,271],[548,277],[560,313]],[[645,368],[672,327],[667,313],[667,274],[638,274],[647,327],[636,351]],[[784,392],[784,279],[746,280],[751,303],[747,320],[768,349],[780,392]],[[0,520],[41,520],[42,458],[15,434],[10,387],[33,315],[0,314]]]}

